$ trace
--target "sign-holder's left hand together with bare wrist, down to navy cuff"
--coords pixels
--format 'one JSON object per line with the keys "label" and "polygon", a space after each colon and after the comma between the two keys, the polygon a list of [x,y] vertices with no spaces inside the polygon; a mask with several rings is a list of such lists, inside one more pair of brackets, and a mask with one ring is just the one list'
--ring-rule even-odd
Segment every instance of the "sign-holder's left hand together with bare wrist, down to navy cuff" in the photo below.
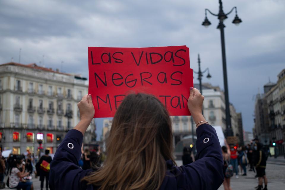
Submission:
{"label": "sign-holder's left hand together with bare wrist, down to navy cuff", "polygon": [[74,129],[80,131],[84,135],[95,113],[91,94],[86,94],[85,96],[83,96],[77,106],[79,108],[80,113],[80,122],[74,127]]}

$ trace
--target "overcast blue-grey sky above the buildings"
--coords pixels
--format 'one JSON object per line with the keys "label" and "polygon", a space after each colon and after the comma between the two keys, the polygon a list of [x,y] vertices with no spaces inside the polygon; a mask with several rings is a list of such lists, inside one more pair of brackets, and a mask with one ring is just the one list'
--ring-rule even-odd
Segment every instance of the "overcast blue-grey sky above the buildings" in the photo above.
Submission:
{"label": "overcast blue-grey sky above the buildings", "polygon": [[[243,126],[254,126],[253,96],[263,91],[270,77],[285,68],[285,1],[224,1],[224,12],[238,7],[242,19],[225,20],[229,101],[242,112]],[[209,67],[212,85],[223,85],[220,32],[217,18],[201,26],[204,9],[218,13],[218,0],[98,0],[0,1],[0,63],[14,58],[88,77],[87,47],[156,47],[187,45],[190,67]],[[42,61],[44,55],[44,61]],[[61,62],[63,61],[63,64]],[[197,76],[194,83],[197,83]],[[97,120],[101,135],[102,119]]]}

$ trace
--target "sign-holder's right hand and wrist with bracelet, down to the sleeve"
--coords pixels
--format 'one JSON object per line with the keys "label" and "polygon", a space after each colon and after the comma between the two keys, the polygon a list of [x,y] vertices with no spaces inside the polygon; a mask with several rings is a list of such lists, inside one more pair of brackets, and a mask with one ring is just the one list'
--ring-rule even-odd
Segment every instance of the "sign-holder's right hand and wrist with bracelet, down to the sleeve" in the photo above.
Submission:
{"label": "sign-holder's right hand and wrist with bracelet, down to the sleeve", "polygon": [[[204,96],[197,90],[197,88],[190,87],[190,96],[188,98],[187,106],[195,121],[199,123],[200,121],[205,121],[202,115]],[[201,122],[197,125],[197,128],[206,122]]]}

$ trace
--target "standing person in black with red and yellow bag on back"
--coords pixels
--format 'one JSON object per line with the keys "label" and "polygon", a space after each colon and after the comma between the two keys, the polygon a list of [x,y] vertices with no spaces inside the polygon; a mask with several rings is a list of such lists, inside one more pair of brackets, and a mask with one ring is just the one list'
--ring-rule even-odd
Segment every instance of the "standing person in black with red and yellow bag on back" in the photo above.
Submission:
{"label": "standing person in black with red and yellow bag on back", "polygon": [[49,180],[49,175],[50,175],[50,169],[49,169],[49,164],[51,162],[51,156],[49,156],[50,150],[45,150],[45,155],[43,155],[39,159],[40,163],[40,170],[39,170],[39,181],[41,181],[41,190],[44,187],[44,181],[45,181],[45,186],[46,189],[48,190],[48,180]]}

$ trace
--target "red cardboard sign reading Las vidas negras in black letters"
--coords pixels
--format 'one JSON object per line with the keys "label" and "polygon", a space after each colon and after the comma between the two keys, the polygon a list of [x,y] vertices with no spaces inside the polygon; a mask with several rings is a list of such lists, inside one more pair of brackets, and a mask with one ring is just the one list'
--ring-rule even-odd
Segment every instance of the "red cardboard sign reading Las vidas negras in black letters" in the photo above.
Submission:
{"label": "red cardboard sign reading Las vidas negras in black letters", "polygon": [[186,46],[88,47],[88,65],[94,118],[113,117],[124,97],[138,92],[155,95],[170,115],[190,115],[193,70]]}

